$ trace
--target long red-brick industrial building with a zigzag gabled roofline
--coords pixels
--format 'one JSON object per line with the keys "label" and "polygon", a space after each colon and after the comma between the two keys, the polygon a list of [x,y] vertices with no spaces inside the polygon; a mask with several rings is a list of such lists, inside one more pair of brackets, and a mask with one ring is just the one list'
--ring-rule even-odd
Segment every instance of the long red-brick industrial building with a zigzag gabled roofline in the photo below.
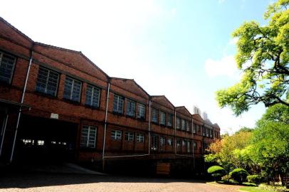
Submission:
{"label": "long red-brick industrial building with a zigzag gabled roofline", "polygon": [[[198,170],[220,127],[83,53],[37,43],[0,18],[2,161],[168,161]],[[198,168],[196,168],[198,167]],[[201,169],[199,169],[200,171]]]}

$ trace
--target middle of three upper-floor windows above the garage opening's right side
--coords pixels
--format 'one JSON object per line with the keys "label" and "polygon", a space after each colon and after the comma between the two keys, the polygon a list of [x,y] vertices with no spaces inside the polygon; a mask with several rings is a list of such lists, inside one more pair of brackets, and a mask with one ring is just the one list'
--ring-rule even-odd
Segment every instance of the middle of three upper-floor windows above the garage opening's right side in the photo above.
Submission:
{"label": "middle of three upper-floor windows above the garage opening's right side", "polygon": [[63,98],[73,100],[75,102],[80,101],[81,82],[73,78],[66,77]]}

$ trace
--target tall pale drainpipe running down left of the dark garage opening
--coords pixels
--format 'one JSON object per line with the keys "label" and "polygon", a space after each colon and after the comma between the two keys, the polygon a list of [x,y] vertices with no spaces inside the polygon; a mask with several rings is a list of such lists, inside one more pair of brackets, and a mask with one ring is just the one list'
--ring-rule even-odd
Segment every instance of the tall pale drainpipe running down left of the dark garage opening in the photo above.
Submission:
{"label": "tall pale drainpipe running down left of the dark garage opening", "polygon": [[[22,97],[21,97],[21,104],[23,104],[23,102],[24,102],[24,97],[25,97],[28,77],[29,77],[29,73],[30,73],[32,60],[33,60],[33,50],[32,49],[33,49],[33,45],[32,45],[32,48],[31,48],[31,56],[30,56],[30,60],[29,60],[27,73],[26,73],[25,84],[24,84],[24,87],[23,87],[23,92],[22,92]],[[13,155],[14,155],[14,149],[15,149],[15,144],[16,144],[16,137],[17,137],[17,132],[18,132],[18,128],[19,128],[21,112],[22,112],[22,106],[19,108],[19,113],[18,113],[18,117],[17,117],[16,129],[15,129],[14,140],[13,140],[13,146],[12,146],[12,151],[11,151],[11,156],[10,156],[10,163],[13,160]]]}

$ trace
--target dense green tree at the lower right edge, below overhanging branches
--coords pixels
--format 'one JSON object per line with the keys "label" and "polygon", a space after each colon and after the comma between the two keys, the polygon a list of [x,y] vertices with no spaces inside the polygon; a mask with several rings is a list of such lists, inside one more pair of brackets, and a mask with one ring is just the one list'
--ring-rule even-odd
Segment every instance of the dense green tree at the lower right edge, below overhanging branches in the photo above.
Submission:
{"label": "dense green tree at the lower right edge, below overhanging branches", "polygon": [[289,172],[289,107],[275,105],[269,107],[257,122],[253,132],[254,146],[251,159],[261,165],[267,175],[283,176]]}

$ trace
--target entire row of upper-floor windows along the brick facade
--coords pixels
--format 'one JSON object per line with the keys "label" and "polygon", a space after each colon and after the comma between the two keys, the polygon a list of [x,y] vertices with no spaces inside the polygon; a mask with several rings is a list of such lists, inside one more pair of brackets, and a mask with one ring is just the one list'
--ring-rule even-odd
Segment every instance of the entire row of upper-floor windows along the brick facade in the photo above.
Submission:
{"label": "entire row of upper-floor windows along the brick facade", "polygon": [[[0,80],[11,83],[12,73],[16,58],[6,53],[0,52]],[[54,70],[39,66],[38,78],[36,82],[36,91],[42,92],[46,95],[56,96],[58,92],[58,82],[60,73]],[[66,100],[72,100],[80,102],[82,82],[69,76],[65,77],[65,85],[63,90],[63,98]],[[100,88],[93,85],[87,85],[85,92],[85,105],[91,107],[99,107],[100,102]],[[114,95],[113,100],[113,112],[123,114],[125,98],[120,95]],[[137,103],[133,100],[126,99],[126,110],[125,114],[130,117],[137,117],[139,119],[145,119],[145,105]],[[159,123],[161,125],[172,127],[173,115],[166,114],[161,110],[152,108],[152,122]],[[177,117],[177,129],[191,132],[191,124],[185,119]],[[199,125],[194,125],[193,132],[196,133],[196,129],[200,129]],[[199,132],[199,131],[198,131]],[[213,137],[213,131],[211,129],[205,129],[203,127],[203,136]],[[215,132],[215,137],[218,137],[218,133]]]}

